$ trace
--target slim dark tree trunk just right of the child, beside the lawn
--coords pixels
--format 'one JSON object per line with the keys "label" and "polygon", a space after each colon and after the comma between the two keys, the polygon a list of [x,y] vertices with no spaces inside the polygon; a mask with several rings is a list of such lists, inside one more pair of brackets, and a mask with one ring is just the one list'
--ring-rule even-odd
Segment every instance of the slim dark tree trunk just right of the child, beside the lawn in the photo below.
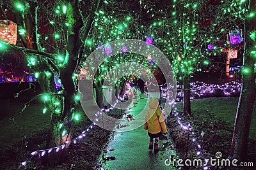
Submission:
{"label": "slim dark tree trunk just right of the child, beside the lawn", "polygon": [[191,103],[190,103],[190,78],[189,75],[183,77],[184,96],[183,96],[183,113],[191,115]]}

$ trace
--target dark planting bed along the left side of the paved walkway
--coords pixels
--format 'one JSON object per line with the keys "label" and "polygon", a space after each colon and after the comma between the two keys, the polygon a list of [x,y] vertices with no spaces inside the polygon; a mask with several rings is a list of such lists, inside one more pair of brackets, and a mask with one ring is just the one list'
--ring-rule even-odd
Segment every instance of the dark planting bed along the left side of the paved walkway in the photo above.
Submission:
{"label": "dark planting bed along the left side of the paved walkway", "polygon": [[[33,107],[33,106],[32,106]],[[36,106],[34,106],[36,109]],[[37,106],[40,108],[40,106]],[[108,115],[112,117],[122,117],[124,111],[113,109],[109,111]],[[42,116],[42,113],[40,113]],[[25,118],[25,117],[24,117]],[[37,117],[39,118],[39,117]],[[25,118],[26,119],[26,118]],[[3,120],[8,121],[8,120]],[[92,122],[85,116],[82,116],[81,121],[76,124],[74,130],[74,137],[77,137],[84,131],[85,128],[89,127]],[[10,124],[12,125],[12,124]],[[83,138],[79,143],[70,145],[68,149],[67,159],[65,162],[57,166],[48,166],[40,164],[40,160],[33,157],[31,160],[30,152],[35,150],[36,147],[40,149],[45,146],[45,139],[47,138],[48,128],[42,129],[40,132],[37,131],[33,136],[29,136],[26,139],[28,147],[22,144],[21,139],[15,140],[14,143],[10,141],[2,150],[0,150],[0,163],[3,169],[94,169],[99,159],[102,148],[107,144],[111,131],[106,131],[101,127],[95,125],[91,131],[86,134],[86,138]],[[21,145],[22,144],[22,145]],[[28,165],[21,166],[21,162],[27,160]]]}

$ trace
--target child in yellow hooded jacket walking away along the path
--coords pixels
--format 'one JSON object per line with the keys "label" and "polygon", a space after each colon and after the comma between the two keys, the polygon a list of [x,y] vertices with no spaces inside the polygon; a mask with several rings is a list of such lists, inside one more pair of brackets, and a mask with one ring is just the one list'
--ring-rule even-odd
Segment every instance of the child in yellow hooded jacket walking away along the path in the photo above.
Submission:
{"label": "child in yellow hooded jacket walking away along the path", "polygon": [[153,149],[153,143],[155,139],[154,152],[158,152],[159,136],[161,136],[162,131],[164,134],[167,133],[166,125],[164,122],[164,115],[158,107],[159,106],[158,98],[154,97],[150,99],[148,106],[149,106],[149,110],[147,110],[146,112],[145,124],[144,124],[144,129],[148,130],[148,136],[150,138],[148,149],[150,150]]}

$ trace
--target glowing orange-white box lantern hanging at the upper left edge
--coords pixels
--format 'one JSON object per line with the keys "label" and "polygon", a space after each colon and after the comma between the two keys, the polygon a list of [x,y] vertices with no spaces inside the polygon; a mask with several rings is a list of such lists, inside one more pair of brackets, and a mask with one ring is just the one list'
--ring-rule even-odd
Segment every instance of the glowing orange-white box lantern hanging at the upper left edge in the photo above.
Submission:
{"label": "glowing orange-white box lantern hanging at the upper left edge", "polygon": [[17,24],[11,20],[0,20],[0,40],[16,45]]}

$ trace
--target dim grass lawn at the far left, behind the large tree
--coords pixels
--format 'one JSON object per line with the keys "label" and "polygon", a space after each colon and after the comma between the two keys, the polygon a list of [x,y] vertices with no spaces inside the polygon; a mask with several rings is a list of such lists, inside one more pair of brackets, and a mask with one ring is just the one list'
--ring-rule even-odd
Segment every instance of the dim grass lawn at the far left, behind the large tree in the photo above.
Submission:
{"label": "dim grass lawn at the far left, behind the large tree", "polygon": [[[0,122],[0,149],[13,144],[21,145],[24,134],[26,139],[38,138],[38,134],[44,134],[45,130],[49,129],[51,118],[49,113],[42,113],[43,104],[32,103],[24,112],[19,113],[24,103],[8,102],[10,103],[4,104],[8,115]],[[3,104],[4,101],[1,103]],[[13,118],[14,122],[10,118]],[[38,139],[37,144],[40,145],[40,143],[42,139]]]}

